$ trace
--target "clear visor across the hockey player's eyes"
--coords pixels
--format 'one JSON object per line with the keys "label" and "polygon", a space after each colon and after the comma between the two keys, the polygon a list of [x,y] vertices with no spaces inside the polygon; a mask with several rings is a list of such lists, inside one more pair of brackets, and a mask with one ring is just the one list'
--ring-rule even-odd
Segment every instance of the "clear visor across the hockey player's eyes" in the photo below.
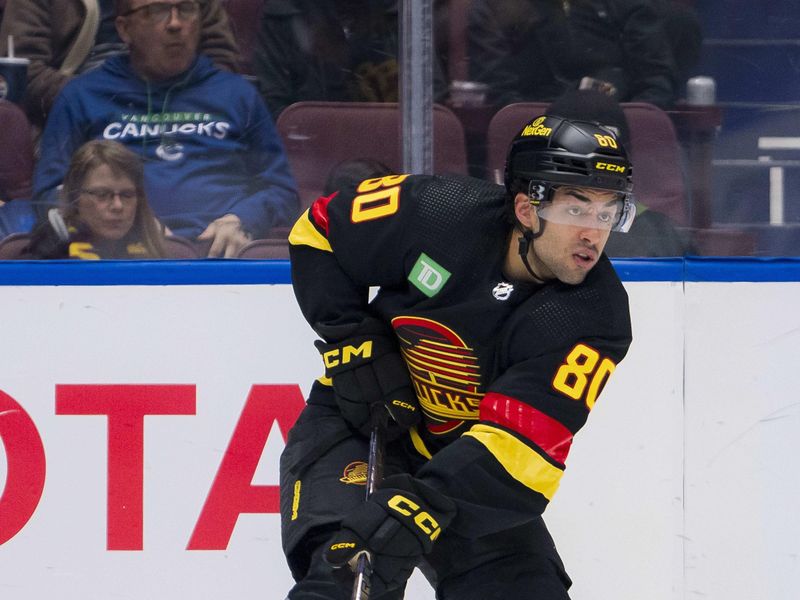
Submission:
{"label": "clear visor across the hockey player's eyes", "polygon": [[610,202],[587,202],[567,197],[537,205],[536,214],[540,219],[553,223],[626,232],[636,216],[636,205],[628,195]]}

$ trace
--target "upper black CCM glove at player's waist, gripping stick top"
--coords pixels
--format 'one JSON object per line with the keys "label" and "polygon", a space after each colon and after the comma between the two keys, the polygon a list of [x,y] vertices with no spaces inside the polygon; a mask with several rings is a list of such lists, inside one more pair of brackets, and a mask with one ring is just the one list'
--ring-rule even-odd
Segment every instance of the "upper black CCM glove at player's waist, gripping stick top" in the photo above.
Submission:
{"label": "upper black CCM glove at player's waist, gripping stick top", "polygon": [[408,367],[396,342],[384,335],[351,337],[338,344],[314,343],[322,354],[325,375],[342,416],[364,435],[370,432],[370,412],[385,406],[392,419],[387,438],[420,420],[419,403],[411,387]]}

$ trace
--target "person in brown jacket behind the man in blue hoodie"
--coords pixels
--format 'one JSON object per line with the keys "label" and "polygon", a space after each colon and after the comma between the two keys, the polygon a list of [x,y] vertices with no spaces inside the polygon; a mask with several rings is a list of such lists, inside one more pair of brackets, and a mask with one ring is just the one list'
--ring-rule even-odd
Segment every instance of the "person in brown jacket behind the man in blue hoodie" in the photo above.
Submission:
{"label": "person in brown jacket behind the man in blue hoodie", "polygon": [[[8,0],[0,27],[0,51],[14,36],[17,56],[30,59],[25,110],[44,127],[53,102],[74,75],[125,52],[114,27],[115,0]],[[219,0],[202,0],[200,50],[235,70],[238,50]]]}

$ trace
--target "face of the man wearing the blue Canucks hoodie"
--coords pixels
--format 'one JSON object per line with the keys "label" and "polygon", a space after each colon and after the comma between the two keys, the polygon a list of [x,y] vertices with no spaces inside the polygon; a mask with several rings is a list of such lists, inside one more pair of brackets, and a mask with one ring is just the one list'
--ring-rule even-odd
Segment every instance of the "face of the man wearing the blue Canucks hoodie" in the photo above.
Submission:
{"label": "face of the man wearing the blue Canucks hoodie", "polygon": [[131,64],[140,76],[161,81],[191,66],[200,40],[196,1],[130,0],[128,7],[117,17],[117,31],[128,44]]}

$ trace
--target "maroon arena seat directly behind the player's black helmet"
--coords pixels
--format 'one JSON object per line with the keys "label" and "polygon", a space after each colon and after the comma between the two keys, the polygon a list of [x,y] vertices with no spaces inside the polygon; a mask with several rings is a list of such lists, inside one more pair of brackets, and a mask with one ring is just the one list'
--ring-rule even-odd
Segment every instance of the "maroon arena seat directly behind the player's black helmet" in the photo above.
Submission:
{"label": "maroon arena seat directly behind the player's black helmet", "polygon": [[[688,225],[686,186],[681,150],[669,115],[652,104],[622,103],[628,120],[633,161],[634,193],[649,208]],[[520,102],[500,109],[489,122],[487,166],[498,183],[503,181],[508,144],[526,121],[543,114],[546,102]]]}

